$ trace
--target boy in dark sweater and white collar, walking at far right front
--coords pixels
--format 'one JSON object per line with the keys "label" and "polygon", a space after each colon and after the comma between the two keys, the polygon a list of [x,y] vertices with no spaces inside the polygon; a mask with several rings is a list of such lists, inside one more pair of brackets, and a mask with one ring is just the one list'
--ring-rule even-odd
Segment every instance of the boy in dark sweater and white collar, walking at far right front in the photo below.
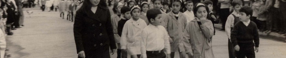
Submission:
{"label": "boy in dark sweater and white collar, walking at far right front", "polygon": [[[259,35],[257,26],[249,18],[252,16],[252,8],[243,6],[239,10],[239,19],[231,32],[231,42],[233,43],[237,58],[255,58],[258,52]],[[254,43],[253,43],[254,40]],[[253,48],[255,46],[255,49]]]}

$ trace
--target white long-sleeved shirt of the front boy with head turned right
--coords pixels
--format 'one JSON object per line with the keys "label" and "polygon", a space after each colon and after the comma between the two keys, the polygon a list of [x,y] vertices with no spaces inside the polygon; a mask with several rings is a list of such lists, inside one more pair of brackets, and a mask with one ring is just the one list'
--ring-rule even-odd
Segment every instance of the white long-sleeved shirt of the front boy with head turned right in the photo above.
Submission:
{"label": "white long-sleeved shirt of the front boy with head turned right", "polygon": [[165,27],[149,24],[142,31],[141,38],[141,54],[143,58],[147,58],[146,51],[161,51],[165,50],[167,54],[171,53],[169,43],[169,34]]}

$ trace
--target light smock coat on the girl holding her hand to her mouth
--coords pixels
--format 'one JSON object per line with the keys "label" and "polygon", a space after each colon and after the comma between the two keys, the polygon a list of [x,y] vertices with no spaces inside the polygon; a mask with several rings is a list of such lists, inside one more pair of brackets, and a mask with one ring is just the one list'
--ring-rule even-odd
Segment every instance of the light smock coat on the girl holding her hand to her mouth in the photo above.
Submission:
{"label": "light smock coat on the girl holding her hand to her mouth", "polygon": [[214,34],[213,24],[211,20],[207,20],[206,23],[202,23],[200,26],[197,20],[195,18],[187,24],[184,39],[190,39],[194,53],[193,58],[215,58],[211,47],[211,37]]}

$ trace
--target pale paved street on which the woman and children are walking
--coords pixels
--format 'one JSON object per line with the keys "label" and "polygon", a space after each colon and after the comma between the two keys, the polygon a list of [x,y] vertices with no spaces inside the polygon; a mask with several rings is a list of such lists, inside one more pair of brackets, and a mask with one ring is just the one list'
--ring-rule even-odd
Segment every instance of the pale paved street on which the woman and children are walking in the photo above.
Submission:
{"label": "pale paved street on which the woman and children are walking", "polygon": [[[7,37],[8,58],[77,58],[73,23],[60,18],[60,13],[41,10],[26,11],[24,27]],[[65,15],[66,17],[66,15]],[[256,58],[285,58],[286,43],[272,37],[260,37]],[[212,48],[216,58],[228,58],[228,40],[224,31],[216,30]],[[116,53],[111,58],[116,58]],[[179,54],[176,53],[176,58]]]}

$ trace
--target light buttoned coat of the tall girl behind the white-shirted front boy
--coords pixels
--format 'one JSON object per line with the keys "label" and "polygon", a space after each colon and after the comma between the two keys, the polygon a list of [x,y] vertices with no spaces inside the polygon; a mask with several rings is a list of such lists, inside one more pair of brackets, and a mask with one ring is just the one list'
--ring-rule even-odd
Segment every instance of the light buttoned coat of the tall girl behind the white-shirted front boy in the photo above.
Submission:
{"label": "light buttoned coat of the tall girl behind the white-shirted front boy", "polygon": [[182,12],[179,12],[177,20],[174,13],[171,11],[164,16],[164,22],[163,26],[173,40],[173,43],[171,43],[171,52],[178,51],[178,49],[180,52],[185,51],[183,45],[183,32],[187,25],[187,18],[185,15]]}

